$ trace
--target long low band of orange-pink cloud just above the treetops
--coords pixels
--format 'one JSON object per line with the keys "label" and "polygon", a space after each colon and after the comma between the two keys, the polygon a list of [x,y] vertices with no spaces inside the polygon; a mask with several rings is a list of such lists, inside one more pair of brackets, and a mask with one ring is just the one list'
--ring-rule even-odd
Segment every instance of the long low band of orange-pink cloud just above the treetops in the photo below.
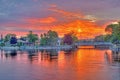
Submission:
{"label": "long low band of orange-pink cloud just above the treetops", "polygon": [[[84,20],[74,20],[71,22],[62,23],[58,25],[51,25],[51,26],[47,26],[47,25],[39,26],[34,24],[23,24],[23,25],[7,24],[6,26],[14,26],[15,29],[14,27],[12,27],[13,30],[10,30],[10,31],[12,33],[16,33],[17,35],[25,35],[28,33],[29,30],[32,30],[38,35],[40,35],[41,33],[47,32],[48,30],[54,30],[58,32],[60,37],[63,37],[64,34],[66,33],[74,32],[79,39],[86,39],[86,38],[88,39],[88,38],[94,38],[97,35],[105,33],[104,27],[98,26],[93,22],[84,21]],[[16,27],[20,29],[17,29]]]}

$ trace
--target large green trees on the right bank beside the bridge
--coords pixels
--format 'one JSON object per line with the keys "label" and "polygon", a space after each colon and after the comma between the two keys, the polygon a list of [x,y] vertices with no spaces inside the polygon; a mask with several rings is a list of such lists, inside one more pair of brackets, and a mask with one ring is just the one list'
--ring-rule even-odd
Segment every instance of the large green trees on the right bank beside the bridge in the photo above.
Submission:
{"label": "large green trees on the right bank beside the bridge", "polygon": [[105,32],[106,35],[96,36],[95,40],[120,43],[120,22],[106,26]]}

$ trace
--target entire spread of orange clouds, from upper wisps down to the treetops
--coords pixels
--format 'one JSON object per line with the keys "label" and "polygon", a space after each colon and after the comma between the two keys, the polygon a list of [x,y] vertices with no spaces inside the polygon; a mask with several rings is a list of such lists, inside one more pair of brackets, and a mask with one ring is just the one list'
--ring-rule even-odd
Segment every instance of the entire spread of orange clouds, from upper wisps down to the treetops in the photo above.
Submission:
{"label": "entire spread of orange clouds, from upper wisps down to the treetops", "polygon": [[[57,9],[57,6],[54,4],[52,4],[51,7],[52,8],[50,8],[49,10],[60,13],[63,16],[70,18],[66,19],[68,20],[67,23],[60,23],[58,19],[54,17],[46,17],[29,18],[24,20],[28,24],[7,24],[5,26],[14,26],[15,28],[12,27],[12,32],[15,32],[18,35],[22,35],[23,33],[27,34],[29,30],[34,31],[39,35],[41,33],[47,32],[48,30],[54,30],[58,32],[60,37],[63,37],[66,33],[74,32],[79,39],[94,38],[97,35],[105,34],[104,26],[98,26],[96,23],[91,22],[96,19],[94,16],[83,15],[82,13],[72,13],[65,10]],[[44,24],[44,26],[36,24]],[[16,27],[18,27],[19,29],[16,30]]]}

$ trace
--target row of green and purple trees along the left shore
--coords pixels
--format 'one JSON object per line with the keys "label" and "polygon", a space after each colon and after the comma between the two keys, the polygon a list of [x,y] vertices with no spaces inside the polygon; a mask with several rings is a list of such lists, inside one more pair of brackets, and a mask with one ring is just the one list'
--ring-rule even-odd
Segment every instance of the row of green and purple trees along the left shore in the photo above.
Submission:
{"label": "row of green and purple trees along the left shore", "polygon": [[49,30],[46,33],[34,34],[32,31],[29,31],[27,35],[21,36],[20,38],[16,37],[16,34],[7,34],[5,37],[1,37],[1,46],[5,46],[7,43],[10,45],[22,45],[22,42],[26,41],[28,44],[40,45],[40,46],[55,46],[60,43],[60,45],[72,45],[78,41],[78,38],[73,32],[65,34],[62,38],[59,38],[56,31]]}

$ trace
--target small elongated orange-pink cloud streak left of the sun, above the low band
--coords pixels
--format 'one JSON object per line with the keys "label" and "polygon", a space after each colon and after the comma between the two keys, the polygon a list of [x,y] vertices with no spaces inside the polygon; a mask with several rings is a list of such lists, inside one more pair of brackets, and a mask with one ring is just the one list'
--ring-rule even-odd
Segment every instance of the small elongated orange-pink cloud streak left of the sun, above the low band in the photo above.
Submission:
{"label": "small elongated orange-pink cloud streak left of the sun, above the low band", "polygon": [[40,19],[32,18],[32,19],[27,19],[26,21],[32,24],[38,24],[38,23],[51,24],[56,22],[57,20],[53,17],[46,17],[46,18],[40,18]]}

